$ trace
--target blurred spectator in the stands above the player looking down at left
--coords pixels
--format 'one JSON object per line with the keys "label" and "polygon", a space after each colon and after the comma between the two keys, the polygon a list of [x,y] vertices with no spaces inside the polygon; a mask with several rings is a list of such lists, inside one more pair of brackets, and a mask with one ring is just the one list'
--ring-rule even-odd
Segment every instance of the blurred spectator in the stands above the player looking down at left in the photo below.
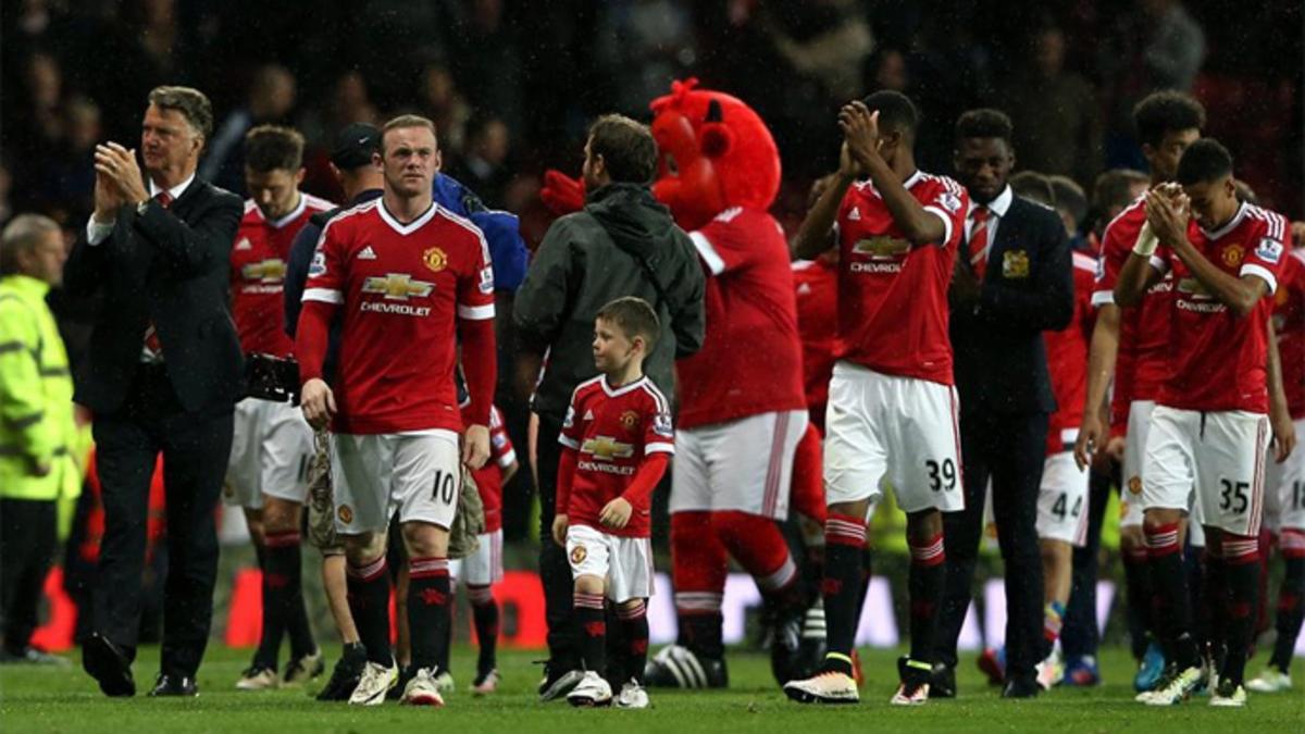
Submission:
{"label": "blurred spectator in the stands above the player looking down at left", "polygon": [[295,77],[279,64],[265,64],[254,72],[249,99],[218,125],[200,178],[244,196],[244,152],[241,142],[251,128],[286,121],[295,107]]}

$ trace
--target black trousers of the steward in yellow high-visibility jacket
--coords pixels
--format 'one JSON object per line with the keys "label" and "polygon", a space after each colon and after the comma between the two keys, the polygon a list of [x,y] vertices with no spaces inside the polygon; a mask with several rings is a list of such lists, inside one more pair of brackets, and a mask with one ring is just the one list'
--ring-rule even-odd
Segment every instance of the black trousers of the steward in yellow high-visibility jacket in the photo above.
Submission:
{"label": "black trousers of the steward in yellow high-visibility jacket", "polygon": [[0,499],[0,636],[22,654],[37,631],[46,575],[55,560],[55,500]]}

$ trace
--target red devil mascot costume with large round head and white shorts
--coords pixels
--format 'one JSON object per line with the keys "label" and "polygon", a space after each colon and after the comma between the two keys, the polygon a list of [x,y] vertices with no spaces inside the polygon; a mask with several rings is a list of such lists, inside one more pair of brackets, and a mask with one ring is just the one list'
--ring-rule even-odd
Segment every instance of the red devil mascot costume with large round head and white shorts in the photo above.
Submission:
{"label": "red devil mascot costume with large round head and white shorts", "polygon": [[[779,191],[779,153],[757,112],[696,80],[675,82],[651,108],[660,153],[652,192],[690,232],[709,277],[706,341],[676,364],[671,552],[679,639],[649,662],[647,684],[727,684],[720,601],[728,556],[757,581],[773,671],[784,683],[820,662],[823,635],[803,640],[813,594],[779,528],[808,423],[788,244],[767,213]],[[553,171],[544,193],[555,210],[582,200],[577,183]]]}

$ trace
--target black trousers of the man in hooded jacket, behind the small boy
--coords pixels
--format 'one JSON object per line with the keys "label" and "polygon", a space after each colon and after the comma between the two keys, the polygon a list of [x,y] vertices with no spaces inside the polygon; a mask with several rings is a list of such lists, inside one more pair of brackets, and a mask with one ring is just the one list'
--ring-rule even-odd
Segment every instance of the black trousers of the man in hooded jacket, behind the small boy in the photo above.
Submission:
{"label": "black trousers of the man in hooded jacket, behind the small boy", "polygon": [[561,670],[579,667],[579,635],[572,611],[574,581],[566,549],[553,542],[557,515],[557,465],[562,449],[557,443],[562,424],[551,415],[539,417],[539,580],[544,586],[544,620],[548,623],[548,658]]}

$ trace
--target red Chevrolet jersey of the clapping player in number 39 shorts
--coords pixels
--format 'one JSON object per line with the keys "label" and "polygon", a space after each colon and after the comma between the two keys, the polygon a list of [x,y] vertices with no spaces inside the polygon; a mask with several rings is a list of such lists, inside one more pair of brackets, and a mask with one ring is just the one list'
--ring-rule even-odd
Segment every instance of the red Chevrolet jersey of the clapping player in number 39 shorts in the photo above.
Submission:
{"label": "red Chevrolet jersey of the clapping player in number 39 shorts", "polygon": [[838,209],[835,354],[885,375],[950,385],[947,286],[970,196],[957,182],[920,171],[904,185],[942,218],[944,240],[912,247],[870,182],[847,191]]}

